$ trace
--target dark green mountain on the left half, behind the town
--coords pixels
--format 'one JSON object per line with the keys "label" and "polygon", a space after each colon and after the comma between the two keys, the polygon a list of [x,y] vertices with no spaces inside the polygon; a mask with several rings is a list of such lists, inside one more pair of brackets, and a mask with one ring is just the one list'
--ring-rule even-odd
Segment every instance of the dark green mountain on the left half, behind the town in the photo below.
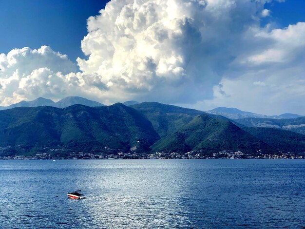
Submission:
{"label": "dark green mountain on the left half, behind the town", "polygon": [[21,107],[0,112],[0,147],[66,145],[77,149],[108,147],[148,151],[158,134],[152,124],[123,104]]}

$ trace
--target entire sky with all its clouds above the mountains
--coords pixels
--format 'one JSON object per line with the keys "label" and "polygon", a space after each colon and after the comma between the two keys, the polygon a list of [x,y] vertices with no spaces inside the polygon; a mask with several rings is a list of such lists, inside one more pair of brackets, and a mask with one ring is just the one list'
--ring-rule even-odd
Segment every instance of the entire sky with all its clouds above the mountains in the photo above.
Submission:
{"label": "entire sky with all its clouds above the mountains", "polygon": [[0,105],[40,96],[305,115],[305,1],[0,0]]}

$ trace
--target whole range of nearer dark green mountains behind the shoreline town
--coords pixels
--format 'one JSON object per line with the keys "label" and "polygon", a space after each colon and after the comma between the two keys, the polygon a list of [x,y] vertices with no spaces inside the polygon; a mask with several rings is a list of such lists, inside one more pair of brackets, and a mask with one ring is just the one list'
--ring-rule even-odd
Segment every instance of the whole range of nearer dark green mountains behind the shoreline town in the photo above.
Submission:
{"label": "whole range of nearer dark green mountains behind the shoreline town", "polygon": [[305,152],[303,134],[236,121],[240,120],[156,102],[19,107],[0,111],[0,155],[58,147],[135,153]]}

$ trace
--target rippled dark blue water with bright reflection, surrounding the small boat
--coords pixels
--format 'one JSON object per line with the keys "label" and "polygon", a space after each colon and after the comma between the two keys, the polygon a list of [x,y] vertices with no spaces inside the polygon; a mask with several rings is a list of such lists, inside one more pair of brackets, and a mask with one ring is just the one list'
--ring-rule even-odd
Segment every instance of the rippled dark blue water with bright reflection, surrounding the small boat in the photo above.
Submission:
{"label": "rippled dark blue water with bright reflection, surrounding the small boat", "polygon": [[305,160],[7,160],[0,197],[0,228],[305,228]]}

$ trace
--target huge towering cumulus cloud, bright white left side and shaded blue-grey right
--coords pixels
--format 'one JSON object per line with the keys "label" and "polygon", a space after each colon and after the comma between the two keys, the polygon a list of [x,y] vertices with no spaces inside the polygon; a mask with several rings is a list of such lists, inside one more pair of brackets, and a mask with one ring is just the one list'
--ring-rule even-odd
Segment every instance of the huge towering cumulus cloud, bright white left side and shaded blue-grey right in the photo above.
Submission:
{"label": "huge towering cumulus cloud, bright white left side and shaded blue-grey right", "polygon": [[195,102],[212,93],[243,52],[244,33],[259,25],[265,1],[112,0],[88,19],[77,59],[114,94]]}

